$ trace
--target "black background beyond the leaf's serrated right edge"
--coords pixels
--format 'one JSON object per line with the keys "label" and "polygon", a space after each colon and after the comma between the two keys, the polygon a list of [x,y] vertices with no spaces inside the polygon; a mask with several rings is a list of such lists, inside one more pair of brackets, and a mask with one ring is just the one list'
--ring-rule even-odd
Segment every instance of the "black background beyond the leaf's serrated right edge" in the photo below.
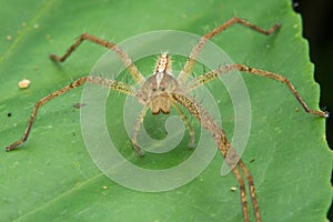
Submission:
{"label": "black background beyond the leaf's serrated right edge", "polygon": [[[294,9],[303,18],[303,36],[310,43],[310,57],[315,64],[315,80],[321,85],[322,110],[331,113],[326,120],[326,138],[333,148],[333,1],[294,0]],[[333,183],[333,174],[331,178]],[[333,206],[327,214],[333,221]]]}

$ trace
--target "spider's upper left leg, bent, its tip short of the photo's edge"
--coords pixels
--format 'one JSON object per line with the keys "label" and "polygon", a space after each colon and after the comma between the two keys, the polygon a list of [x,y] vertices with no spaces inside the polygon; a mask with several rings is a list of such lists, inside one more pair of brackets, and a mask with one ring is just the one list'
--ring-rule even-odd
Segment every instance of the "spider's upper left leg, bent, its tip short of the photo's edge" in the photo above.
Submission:
{"label": "spider's upper left leg, bent, its tip short of the photo's edge", "polygon": [[94,36],[83,33],[79,37],[79,39],[67,50],[67,52],[62,57],[58,57],[56,54],[50,54],[50,58],[58,62],[63,62],[84,40],[88,40],[90,42],[100,44],[104,48],[113,50],[118,57],[121,59],[121,61],[124,63],[128,71],[133,77],[134,81],[139,84],[144,82],[144,77],[141,74],[139,69],[135,67],[135,64],[132,62],[131,58],[115,43],[109,42],[102,39],[99,39]]}

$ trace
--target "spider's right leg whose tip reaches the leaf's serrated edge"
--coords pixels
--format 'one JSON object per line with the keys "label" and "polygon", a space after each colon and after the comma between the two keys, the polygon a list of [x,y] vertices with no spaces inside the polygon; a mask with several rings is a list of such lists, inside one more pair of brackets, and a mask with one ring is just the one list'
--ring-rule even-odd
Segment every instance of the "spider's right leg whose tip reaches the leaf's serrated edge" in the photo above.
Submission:
{"label": "spider's right leg whose tip reaches the leaf's serrated edge", "polygon": [[323,111],[319,111],[319,110],[312,110],[309,108],[309,105],[306,104],[306,102],[302,99],[302,97],[299,94],[299,92],[296,91],[295,87],[290,82],[290,80],[286,77],[270,72],[270,71],[265,71],[265,70],[260,70],[260,69],[255,69],[255,68],[251,68],[244,64],[228,64],[224,67],[221,67],[219,69],[209,71],[200,77],[194,78],[193,80],[191,80],[186,87],[188,92],[191,90],[196,89],[198,87],[205,84],[214,79],[216,79],[218,77],[230,72],[231,70],[239,70],[241,72],[246,72],[250,74],[255,74],[255,75],[261,75],[261,77],[265,77],[265,78],[270,78],[273,80],[276,80],[279,82],[284,83],[290,91],[293,93],[293,95],[296,98],[296,100],[299,101],[299,103],[302,105],[302,108],[304,109],[305,112],[307,113],[312,113],[319,117],[323,117],[323,118],[327,118],[329,117],[329,112],[323,112]]}

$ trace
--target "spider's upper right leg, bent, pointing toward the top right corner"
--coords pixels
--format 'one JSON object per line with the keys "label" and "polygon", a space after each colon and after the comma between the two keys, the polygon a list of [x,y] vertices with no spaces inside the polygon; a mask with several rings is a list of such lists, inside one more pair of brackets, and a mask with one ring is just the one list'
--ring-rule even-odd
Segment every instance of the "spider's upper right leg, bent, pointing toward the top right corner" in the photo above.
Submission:
{"label": "spider's upper right leg, bent, pointing toward the top right corner", "polygon": [[250,28],[259,33],[266,34],[266,36],[273,33],[276,29],[279,29],[281,27],[280,23],[276,23],[273,27],[271,27],[269,30],[265,30],[265,29],[262,29],[262,28],[260,28],[244,19],[238,18],[238,17],[228,20],[226,22],[216,27],[214,30],[204,34],[200,39],[200,41],[196,43],[196,46],[192,49],[192,52],[190,53],[190,57],[189,57],[185,65],[183,67],[182,71],[180,72],[180,74],[178,77],[178,81],[181,84],[183,84],[188,80],[189,75],[191,74],[193,67],[195,64],[195,61],[196,61],[200,52],[202,51],[205,42],[208,42],[214,36],[221,33],[222,31],[224,31],[225,29],[230,28],[231,26],[233,26],[235,23],[242,24],[243,27]]}

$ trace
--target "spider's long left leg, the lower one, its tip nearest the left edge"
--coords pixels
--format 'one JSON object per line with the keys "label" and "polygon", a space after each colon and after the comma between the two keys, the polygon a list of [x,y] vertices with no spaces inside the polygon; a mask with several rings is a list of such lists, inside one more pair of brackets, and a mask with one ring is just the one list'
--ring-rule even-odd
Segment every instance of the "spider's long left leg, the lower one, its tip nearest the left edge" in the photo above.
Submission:
{"label": "spider's long left leg, the lower one, its tip nearest the left edge", "polygon": [[40,99],[33,107],[33,110],[32,110],[31,117],[29,119],[28,125],[24,130],[23,137],[20,140],[13,142],[12,144],[8,145],[6,148],[6,151],[12,151],[17,147],[19,147],[20,144],[22,144],[23,142],[27,141],[27,139],[29,137],[29,133],[31,131],[32,124],[33,124],[33,122],[37,118],[39,108],[41,108],[43,104],[46,104],[50,100],[52,100],[52,99],[54,99],[54,98],[57,98],[61,94],[64,94],[68,91],[84,84],[85,82],[90,82],[90,83],[93,83],[93,84],[99,84],[99,85],[110,88],[110,89],[113,89],[113,90],[117,90],[117,91],[120,91],[120,92],[123,92],[123,93],[127,93],[127,94],[133,94],[134,93],[134,89],[132,87],[130,87],[125,83],[122,83],[122,82],[118,82],[115,80],[109,80],[109,79],[104,79],[104,78],[100,78],[100,77],[82,77],[82,78],[73,81],[72,83],[70,83],[70,84],[52,92],[51,94]]}

